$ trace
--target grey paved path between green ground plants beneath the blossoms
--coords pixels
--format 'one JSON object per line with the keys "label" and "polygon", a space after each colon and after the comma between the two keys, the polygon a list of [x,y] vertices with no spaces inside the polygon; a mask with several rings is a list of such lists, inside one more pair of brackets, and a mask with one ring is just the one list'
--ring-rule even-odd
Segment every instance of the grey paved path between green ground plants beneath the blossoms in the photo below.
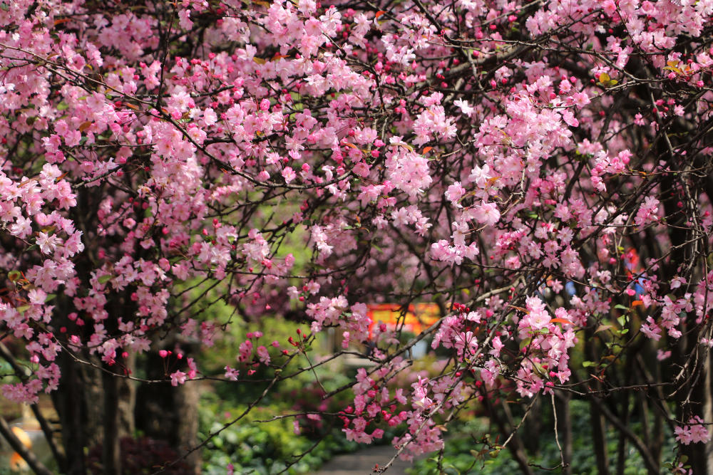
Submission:
{"label": "grey paved path between green ground plants beneath the blossoms", "polygon": [[[374,465],[384,466],[396,454],[396,449],[389,445],[369,447],[368,449],[334,457],[322,466],[316,475],[370,475]],[[411,467],[410,461],[396,459],[389,467],[388,475],[405,475],[406,469]]]}

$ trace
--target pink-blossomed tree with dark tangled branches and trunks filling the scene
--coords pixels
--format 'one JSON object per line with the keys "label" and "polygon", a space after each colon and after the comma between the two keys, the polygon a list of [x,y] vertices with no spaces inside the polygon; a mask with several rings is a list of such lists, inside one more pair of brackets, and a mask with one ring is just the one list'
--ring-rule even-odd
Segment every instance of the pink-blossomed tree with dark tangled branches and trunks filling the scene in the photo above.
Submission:
{"label": "pink-blossomed tree with dark tangled branches and trunks filling the scene", "polygon": [[[401,427],[396,454],[418,456],[478,406],[531,473],[522,421],[537,401],[566,421],[577,397],[600,473],[607,425],[621,468],[628,444],[659,471],[666,426],[694,473],[713,469],[712,14],[711,0],[2,2],[0,338],[29,358],[3,350],[2,395],[53,394],[53,449],[80,474],[101,375],[103,467],[120,473],[125,382],[259,382],[264,397],[334,329],[334,358],[375,364],[339,390],[349,439]],[[219,302],[230,318],[207,316]],[[379,302],[442,318],[404,343],[403,325],[372,325]],[[251,334],[224,373],[182,350],[288,312],[299,335]],[[420,340],[448,361],[395,387]],[[176,364],[135,376],[158,351]],[[653,426],[633,432],[635,414]]]}

